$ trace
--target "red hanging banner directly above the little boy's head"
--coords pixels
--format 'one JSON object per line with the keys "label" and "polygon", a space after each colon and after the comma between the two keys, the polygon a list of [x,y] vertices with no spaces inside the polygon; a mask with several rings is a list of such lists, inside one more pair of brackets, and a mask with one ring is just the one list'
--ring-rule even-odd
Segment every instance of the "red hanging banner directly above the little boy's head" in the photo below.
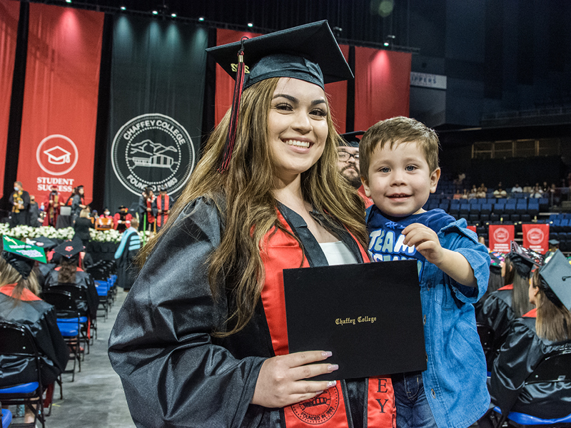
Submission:
{"label": "red hanging banner directly above the little boy's head", "polygon": [[408,116],[413,55],[355,47],[355,129]]}

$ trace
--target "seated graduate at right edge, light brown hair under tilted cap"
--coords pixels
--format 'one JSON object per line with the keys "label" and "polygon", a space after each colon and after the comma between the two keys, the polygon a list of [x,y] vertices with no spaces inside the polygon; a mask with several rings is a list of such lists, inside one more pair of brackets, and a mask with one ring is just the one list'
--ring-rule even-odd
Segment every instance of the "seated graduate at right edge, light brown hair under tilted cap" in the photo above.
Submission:
{"label": "seated graduate at right edge, light brown hair under tilted cap", "polygon": [[512,324],[494,362],[489,389],[502,414],[522,412],[540,418],[571,414],[571,382],[531,383],[527,377],[544,357],[571,346],[571,265],[557,250],[535,270],[529,299],[536,309]]}

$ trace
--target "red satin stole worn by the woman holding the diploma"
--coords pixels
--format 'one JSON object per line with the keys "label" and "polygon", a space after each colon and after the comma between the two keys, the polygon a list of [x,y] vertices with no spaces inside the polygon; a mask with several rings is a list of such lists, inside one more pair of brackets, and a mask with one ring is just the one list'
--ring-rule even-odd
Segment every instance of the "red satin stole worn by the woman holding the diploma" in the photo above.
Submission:
{"label": "red satin stole worn by the woman holding the diploma", "polygon": [[[278,211],[283,227],[293,233],[283,215]],[[363,260],[368,261],[366,251],[359,245]],[[292,235],[273,228],[263,240],[261,258],[266,280],[261,292],[266,320],[270,330],[272,347],[276,355],[288,353],[288,330],[285,322],[285,297],[283,292],[283,269],[309,267],[303,250]],[[395,427],[396,409],[393,384],[390,377],[371,377],[368,380],[368,395],[363,397],[367,406],[368,427]],[[342,428],[348,427],[349,403],[345,402],[342,384],[325,389],[318,397],[283,408],[285,425],[288,428]]]}

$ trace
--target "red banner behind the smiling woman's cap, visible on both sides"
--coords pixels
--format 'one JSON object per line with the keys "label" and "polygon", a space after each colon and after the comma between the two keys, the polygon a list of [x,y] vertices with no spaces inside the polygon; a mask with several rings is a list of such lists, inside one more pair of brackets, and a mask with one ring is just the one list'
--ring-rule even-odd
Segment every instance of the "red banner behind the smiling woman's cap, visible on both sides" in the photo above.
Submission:
{"label": "red banner behind the smiling woman's cap, visible on both sides", "polygon": [[[234,31],[218,29],[216,30],[216,46],[234,43],[240,41],[243,36],[251,39],[261,36],[259,33],[248,33],[246,31]],[[349,58],[349,46],[340,45],[341,52],[345,56],[345,60]],[[236,50],[236,54],[238,51]],[[236,60],[237,61],[237,60]],[[248,51],[244,51],[244,61],[248,63]],[[216,125],[220,123],[228,108],[232,106],[234,93],[234,79],[228,76],[228,73],[221,66],[216,64],[216,94],[214,96],[214,116]],[[338,133],[345,132],[345,120],[347,114],[347,82],[335,82],[325,85],[325,93],[328,96],[329,108],[335,122],[335,128]]]}

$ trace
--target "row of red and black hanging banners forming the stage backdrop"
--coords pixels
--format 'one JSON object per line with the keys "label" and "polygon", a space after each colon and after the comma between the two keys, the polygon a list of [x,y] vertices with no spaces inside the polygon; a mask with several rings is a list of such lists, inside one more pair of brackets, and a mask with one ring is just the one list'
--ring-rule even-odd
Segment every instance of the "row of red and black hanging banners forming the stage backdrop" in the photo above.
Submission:
{"label": "row of red and black hanging banners forming the stage backdrop", "polygon": [[[243,35],[258,34],[0,0],[3,208],[14,180],[38,200],[82,184],[111,211],[146,185],[179,193],[232,101],[205,49]],[[355,81],[325,87],[338,132],[408,116],[410,54],[341,50]]]}

